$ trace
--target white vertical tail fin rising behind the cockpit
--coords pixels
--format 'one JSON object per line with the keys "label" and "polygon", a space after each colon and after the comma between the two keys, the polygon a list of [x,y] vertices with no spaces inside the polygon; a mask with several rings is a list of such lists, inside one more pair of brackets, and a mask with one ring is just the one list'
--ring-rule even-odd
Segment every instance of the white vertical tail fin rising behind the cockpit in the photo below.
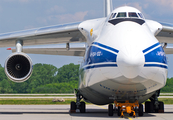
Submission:
{"label": "white vertical tail fin rising behind the cockpit", "polygon": [[104,17],[107,17],[113,10],[112,0],[104,0]]}

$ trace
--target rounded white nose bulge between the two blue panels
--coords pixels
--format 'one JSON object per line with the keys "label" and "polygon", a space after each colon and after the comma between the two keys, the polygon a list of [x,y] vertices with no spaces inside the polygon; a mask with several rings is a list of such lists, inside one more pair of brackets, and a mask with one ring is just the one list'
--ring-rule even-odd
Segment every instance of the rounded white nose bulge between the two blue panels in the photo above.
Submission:
{"label": "rounded white nose bulge between the two blue panels", "polygon": [[142,51],[122,52],[117,55],[117,65],[121,73],[129,79],[139,75],[144,66],[145,58]]}

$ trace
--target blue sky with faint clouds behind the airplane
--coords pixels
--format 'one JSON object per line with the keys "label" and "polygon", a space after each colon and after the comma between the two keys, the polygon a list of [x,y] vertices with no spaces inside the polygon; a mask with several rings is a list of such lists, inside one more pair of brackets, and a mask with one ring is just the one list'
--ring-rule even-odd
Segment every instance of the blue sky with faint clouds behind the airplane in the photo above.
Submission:
{"label": "blue sky with faint clouds behind the airplane", "polygon": [[[146,19],[173,24],[173,0],[113,0],[113,8],[133,6]],[[0,0],[0,33],[85,21],[103,17],[103,0]],[[0,64],[11,54],[0,48]],[[80,64],[82,57],[29,54],[33,64],[56,67]],[[173,77],[173,55],[168,57],[168,77]]]}

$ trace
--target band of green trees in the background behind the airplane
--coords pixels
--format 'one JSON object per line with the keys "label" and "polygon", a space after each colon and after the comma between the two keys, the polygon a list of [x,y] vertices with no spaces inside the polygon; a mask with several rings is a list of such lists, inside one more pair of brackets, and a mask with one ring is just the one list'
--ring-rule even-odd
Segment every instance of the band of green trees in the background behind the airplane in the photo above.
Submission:
{"label": "band of green trees in the background behind the airplane", "polygon": [[[78,88],[79,65],[70,63],[57,68],[49,64],[35,64],[32,76],[23,83],[7,78],[0,65],[0,93],[73,93]],[[168,78],[161,92],[173,92],[173,78]]]}

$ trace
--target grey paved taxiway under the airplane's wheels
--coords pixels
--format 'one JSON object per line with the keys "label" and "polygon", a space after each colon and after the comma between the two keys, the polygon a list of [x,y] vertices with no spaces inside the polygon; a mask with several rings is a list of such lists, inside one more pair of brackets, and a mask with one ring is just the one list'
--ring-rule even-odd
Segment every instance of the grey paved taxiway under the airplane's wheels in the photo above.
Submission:
{"label": "grey paved taxiway under the airplane's wheels", "polygon": [[173,105],[165,105],[165,113],[144,113],[143,117],[109,117],[107,106],[87,105],[86,113],[69,113],[70,105],[0,105],[1,120],[172,120]]}

